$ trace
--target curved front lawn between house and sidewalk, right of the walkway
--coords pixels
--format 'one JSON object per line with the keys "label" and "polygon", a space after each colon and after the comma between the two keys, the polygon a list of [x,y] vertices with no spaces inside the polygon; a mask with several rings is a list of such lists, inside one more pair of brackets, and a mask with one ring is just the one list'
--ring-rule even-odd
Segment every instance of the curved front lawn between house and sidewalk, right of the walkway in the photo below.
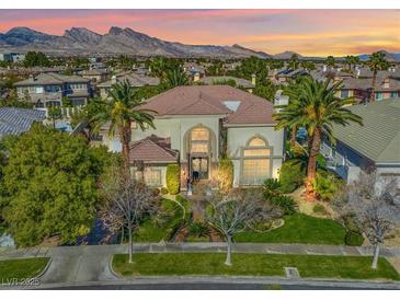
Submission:
{"label": "curved front lawn between house and sidewalk, right of the walkway", "polygon": [[285,224],[268,232],[247,231],[236,235],[242,243],[344,244],[346,230],[336,221],[295,214],[285,217]]}

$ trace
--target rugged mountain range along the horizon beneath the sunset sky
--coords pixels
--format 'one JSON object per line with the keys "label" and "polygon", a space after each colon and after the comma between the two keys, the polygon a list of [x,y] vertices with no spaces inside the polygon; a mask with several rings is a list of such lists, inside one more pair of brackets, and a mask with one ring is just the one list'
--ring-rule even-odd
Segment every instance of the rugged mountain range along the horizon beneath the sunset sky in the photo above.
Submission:
{"label": "rugged mountain range along the horizon beneath the sunset sky", "polygon": [[[238,44],[232,46],[185,45],[178,42],[167,42],[132,28],[112,26],[106,34],[99,34],[84,27],[72,27],[64,35],[50,35],[28,27],[14,27],[4,34],[0,33],[0,51],[39,50],[50,55],[136,55],[136,56],[170,56],[170,57],[212,57],[212,58],[259,58],[289,59],[293,51],[271,55],[255,51]],[[400,53],[387,53],[390,61],[400,61]],[[296,54],[299,59],[323,59],[322,57],[305,57]],[[362,60],[368,55],[358,56]],[[339,58],[338,59],[343,59]]]}

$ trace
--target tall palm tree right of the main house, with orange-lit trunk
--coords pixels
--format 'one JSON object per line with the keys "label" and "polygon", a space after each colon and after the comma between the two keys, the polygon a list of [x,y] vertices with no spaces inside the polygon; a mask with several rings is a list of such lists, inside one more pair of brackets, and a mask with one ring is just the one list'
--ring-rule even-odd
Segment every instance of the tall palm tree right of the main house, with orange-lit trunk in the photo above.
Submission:
{"label": "tall palm tree right of the main house, with orange-lit trunk", "polygon": [[307,162],[306,196],[313,198],[312,182],[316,178],[317,155],[320,150],[321,137],[325,135],[332,142],[334,124],[347,125],[350,122],[362,124],[359,116],[345,108],[353,104],[352,97],[340,99],[335,94],[341,89],[341,82],[332,83],[330,79],[317,81],[307,77],[299,83],[297,100],[287,106],[282,106],[274,115],[276,129],[287,124],[302,126],[309,136],[309,157]]}

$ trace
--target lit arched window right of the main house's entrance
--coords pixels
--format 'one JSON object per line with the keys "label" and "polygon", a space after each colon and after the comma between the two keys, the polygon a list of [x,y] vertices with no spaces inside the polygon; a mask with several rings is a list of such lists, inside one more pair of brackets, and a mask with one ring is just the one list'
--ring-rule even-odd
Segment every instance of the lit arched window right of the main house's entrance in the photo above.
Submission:
{"label": "lit arched window right of the main house's entrance", "polygon": [[260,185],[271,176],[272,147],[261,137],[253,137],[242,150],[242,185]]}

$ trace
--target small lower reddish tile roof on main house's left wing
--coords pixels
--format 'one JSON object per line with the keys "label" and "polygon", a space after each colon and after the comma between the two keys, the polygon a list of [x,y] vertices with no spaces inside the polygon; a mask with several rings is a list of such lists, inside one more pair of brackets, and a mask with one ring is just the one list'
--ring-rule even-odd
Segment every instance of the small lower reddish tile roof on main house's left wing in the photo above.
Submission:
{"label": "small lower reddish tile roof on main house's left wing", "polygon": [[171,149],[169,138],[151,135],[130,146],[129,161],[176,162],[178,151]]}

